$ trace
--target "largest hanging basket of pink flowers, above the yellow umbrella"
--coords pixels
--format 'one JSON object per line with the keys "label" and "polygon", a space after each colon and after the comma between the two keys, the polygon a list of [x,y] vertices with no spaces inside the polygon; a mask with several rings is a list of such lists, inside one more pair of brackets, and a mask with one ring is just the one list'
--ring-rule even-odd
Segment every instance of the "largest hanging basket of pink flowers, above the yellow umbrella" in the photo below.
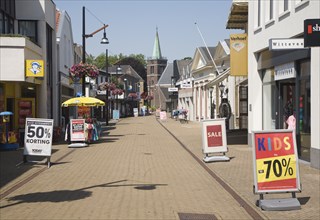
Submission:
{"label": "largest hanging basket of pink flowers, above the yellow umbrella", "polygon": [[83,76],[96,78],[99,75],[99,70],[95,65],[80,62],[78,64],[74,64],[69,69],[69,74],[70,77],[74,80],[79,80]]}

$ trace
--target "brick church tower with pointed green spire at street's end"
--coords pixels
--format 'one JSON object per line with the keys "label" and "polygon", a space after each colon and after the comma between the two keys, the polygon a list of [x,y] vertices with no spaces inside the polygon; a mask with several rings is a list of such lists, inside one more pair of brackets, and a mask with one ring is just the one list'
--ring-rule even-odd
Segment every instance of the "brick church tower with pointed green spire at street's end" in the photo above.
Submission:
{"label": "brick church tower with pointed green spire at street's end", "polygon": [[[147,60],[147,87],[148,94],[152,94],[154,99],[151,100],[151,106],[155,106],[155,90],[158,80],[167,66],[168,60],[162,56],[160,48],[160,40],[158,34],[158,28],[156,29],[156,38],[153,45],[152,57]],[[159,107],[159,106],[155,106]]]}

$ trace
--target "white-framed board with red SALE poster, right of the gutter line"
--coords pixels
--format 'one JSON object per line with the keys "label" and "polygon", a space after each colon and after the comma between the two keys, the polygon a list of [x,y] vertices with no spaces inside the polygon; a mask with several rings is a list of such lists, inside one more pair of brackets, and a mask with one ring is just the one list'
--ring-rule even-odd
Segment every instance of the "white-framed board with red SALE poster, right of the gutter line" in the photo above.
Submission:
{"label": "white-framed board with red SALE poster, right of the gutter line", "polygon": [[225,118],[201,121],[204,154],[228,152]]}

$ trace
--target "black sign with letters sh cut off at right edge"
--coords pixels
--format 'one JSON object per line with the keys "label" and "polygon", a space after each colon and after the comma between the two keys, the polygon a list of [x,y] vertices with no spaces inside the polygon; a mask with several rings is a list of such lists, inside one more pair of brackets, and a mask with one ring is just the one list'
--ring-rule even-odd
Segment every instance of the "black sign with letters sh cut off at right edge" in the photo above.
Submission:
{"label": "black sign with letters sh cut off at right edge", "polygon": [[304,20],[304,46],[320,46],[320,19]]}

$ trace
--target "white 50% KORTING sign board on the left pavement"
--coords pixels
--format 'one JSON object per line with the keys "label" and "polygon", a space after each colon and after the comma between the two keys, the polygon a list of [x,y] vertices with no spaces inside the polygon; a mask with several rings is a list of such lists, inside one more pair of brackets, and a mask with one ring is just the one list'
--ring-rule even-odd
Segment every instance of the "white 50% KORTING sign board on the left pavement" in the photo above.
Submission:
{"label": "white 50% KORTING sign board on the left pavement", "polygon": [[51,156],[53,119],[26,118],[24,155]]}

